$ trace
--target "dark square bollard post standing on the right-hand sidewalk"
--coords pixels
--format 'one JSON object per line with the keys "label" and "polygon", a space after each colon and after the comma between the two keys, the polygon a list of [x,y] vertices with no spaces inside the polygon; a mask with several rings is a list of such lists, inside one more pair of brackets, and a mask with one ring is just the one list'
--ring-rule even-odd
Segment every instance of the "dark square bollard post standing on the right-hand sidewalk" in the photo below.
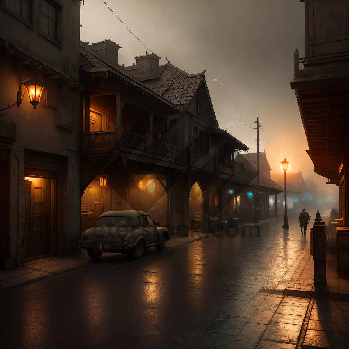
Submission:
{"label": "dark square bollard post standing on the right-hand sidewalk", "polygon": [[312,228],[312,255],[314,261],[314,282],[326,284],[326,225],[314,222]]}

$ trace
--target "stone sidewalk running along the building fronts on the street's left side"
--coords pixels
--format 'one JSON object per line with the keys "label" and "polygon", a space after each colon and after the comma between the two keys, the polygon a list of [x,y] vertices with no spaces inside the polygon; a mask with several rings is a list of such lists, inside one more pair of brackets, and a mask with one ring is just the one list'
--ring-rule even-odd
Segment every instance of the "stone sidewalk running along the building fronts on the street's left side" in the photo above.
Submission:
{"label": "stone sidewalk running along the building fronts on the street's left side", "polygon": [[[279,217],[271,217],[260,221],[259,224],[264,224],[270,221],[277,220]],[[253,223],[251,223],[253,224]],[[201,234],[201,232],[191,231],[189,236],[172,236],[166,242],[164,252],[173,250],[185,244],[192,243],[197,240],[205,239],[213,236],[213,234]],[[155,247],[151,250],[155,250]],[[102,255],[100,260],[106,261],[118,255],[118,253],[108,253]],[[14,268],[12,270],[0,270],[0,292],[18,287],[24,284],[35,282],[61,273],[68,272],[77,268],[88,266],[95,263],[87,255],[85,250],[80,253],[69,256],[47,256],[28,260],[24,266]]]}

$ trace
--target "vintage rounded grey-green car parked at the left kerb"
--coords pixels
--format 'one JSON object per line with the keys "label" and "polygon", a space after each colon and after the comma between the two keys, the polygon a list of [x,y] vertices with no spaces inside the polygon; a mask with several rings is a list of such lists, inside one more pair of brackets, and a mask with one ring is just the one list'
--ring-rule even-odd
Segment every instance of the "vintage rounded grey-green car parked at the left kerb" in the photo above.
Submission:
{"label": "vintage rounded grey-green car parked at the left kerb", "polygon": [[170,237],[169,229],[142,211],[109,211],[99,216],[95,227],[82,233],[78,246],[93,259],[105,252],[127,253],[138,259],[145,248],[163,250]]}

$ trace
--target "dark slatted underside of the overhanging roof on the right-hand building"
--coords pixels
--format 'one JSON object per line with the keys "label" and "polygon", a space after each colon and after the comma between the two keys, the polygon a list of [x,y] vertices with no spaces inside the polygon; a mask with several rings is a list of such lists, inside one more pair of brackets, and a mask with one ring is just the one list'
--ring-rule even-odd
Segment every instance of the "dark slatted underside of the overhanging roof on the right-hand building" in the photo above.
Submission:
{"label": "dark slatted underside of the overhanging roof on the right-hand building", "polygon": [[296,88],[314,172],[337,180],[349,124],[349,83]]}

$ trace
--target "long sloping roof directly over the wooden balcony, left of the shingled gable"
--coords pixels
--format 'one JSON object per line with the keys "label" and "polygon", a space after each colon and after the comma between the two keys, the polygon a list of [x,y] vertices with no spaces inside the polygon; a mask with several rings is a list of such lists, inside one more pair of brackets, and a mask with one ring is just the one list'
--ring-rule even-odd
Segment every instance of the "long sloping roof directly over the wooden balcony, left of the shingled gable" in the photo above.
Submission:
{"label": "long sloping roof directly over the wooden balcony, left of the shingled gable", "polygon": [[89,73],[110,72],[137,86],[147,94],[150,94],[153,97],[159,99],[161,102],[168,104],[177,111],[182,111],[177,105],[173,104],[168,99],[152,91],[149,87],[145,86],[139,80],[129,75],[125,71],[125,69],[122,69],[122,67],[120,67],[119,65],[103,57],[101,54],[92,49],[88,44],[83,42],[80,42],[80,69]]}

